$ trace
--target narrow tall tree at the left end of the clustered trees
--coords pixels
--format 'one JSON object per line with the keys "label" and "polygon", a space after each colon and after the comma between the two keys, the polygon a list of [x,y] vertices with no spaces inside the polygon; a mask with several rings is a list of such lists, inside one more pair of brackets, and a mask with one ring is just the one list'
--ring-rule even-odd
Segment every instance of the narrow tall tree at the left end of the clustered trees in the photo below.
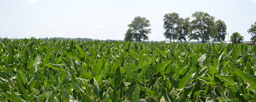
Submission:
{"label": "narrow tall tree at the left end of the clustered trees", "polygon": [[175,28],[177,26],[177,21],[179,20],[178,13],[169,13],[164,15],[164,36],[167,39],[170,39],[170,42],[175,39],[177,36],[175,35]]}

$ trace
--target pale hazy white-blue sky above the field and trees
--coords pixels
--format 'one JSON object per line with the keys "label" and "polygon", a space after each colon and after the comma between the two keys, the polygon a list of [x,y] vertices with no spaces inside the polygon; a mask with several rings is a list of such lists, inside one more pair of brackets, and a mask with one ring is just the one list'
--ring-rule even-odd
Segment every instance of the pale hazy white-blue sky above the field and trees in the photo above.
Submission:
{"label": "pale hazy white-blue sky above the field and trees", "polygon": [[238,32],[250,40],[256,0],[0,0],[0,37],[124,40],[128,24],[141,16],[151,24],[149,41],[161,41],[164,14],[192,21],[195,11],[224,21],[229,36]]}

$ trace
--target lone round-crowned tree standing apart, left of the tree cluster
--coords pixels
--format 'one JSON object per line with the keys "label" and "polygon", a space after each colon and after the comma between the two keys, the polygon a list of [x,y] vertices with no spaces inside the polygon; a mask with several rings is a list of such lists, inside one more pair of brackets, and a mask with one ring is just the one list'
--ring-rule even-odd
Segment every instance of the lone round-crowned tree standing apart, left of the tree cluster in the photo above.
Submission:
{"label": "lone round-crowned tree standing apart, left of the tree cluster", "polygon": [[125,34],[125,40],[135,39],[139,42],[141,42],[141,39],[148,40],[147,34],[151,33],[151,29],[146,29],[146,27],[149,26],[151,26],[149,24],[149,20],[147,20],[145,17],[135,17],[132,23],[128,25],[129,29]]}

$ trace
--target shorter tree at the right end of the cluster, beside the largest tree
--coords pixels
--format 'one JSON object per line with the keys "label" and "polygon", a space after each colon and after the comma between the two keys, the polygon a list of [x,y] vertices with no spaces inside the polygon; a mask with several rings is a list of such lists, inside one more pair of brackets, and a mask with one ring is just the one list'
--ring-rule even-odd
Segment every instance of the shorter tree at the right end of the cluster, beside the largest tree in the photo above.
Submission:
{"label": "shorter tree at the right end of the cluster, beside the largest tree", "polygon": [[211,36],[213,38],[213,41],[224,41],[225,35],[227,35],[227,27],[224,21],[221,21],[220,19],[218,21],[215,21],[215,32]]}

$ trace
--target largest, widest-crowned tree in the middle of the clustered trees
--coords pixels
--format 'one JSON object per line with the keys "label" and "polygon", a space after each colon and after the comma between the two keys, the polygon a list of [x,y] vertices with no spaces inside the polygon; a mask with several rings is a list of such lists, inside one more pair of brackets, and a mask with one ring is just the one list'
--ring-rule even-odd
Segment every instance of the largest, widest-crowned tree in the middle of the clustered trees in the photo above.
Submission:
{"label": "largest, widest-crowned tree in the middle of the clustered trees", "polygon": [[203,43],[208,41],[209,36],[214,31],[214,17],[210,16],[208,13],[203,13],[201,11],[196,11],[192,14],[192,17],[196,18],[191,21],[190,34],[188,36],[189,40],[202,40]]}

